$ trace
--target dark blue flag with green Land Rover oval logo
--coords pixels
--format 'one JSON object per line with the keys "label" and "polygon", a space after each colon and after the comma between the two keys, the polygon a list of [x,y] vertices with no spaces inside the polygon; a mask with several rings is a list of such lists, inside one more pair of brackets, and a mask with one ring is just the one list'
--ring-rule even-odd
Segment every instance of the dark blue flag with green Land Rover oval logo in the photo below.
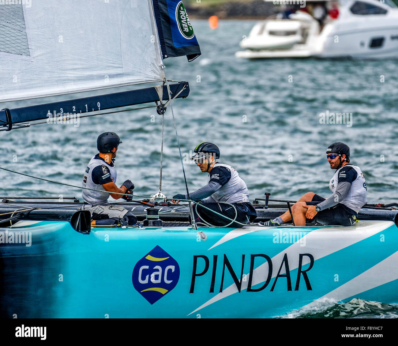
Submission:
{"label": "dark blue flag with green Land Rover oval logo", "polygon": [[193,61],[201,55],[184,4],[180,0],[153,0],[163,59],[187,56]]}

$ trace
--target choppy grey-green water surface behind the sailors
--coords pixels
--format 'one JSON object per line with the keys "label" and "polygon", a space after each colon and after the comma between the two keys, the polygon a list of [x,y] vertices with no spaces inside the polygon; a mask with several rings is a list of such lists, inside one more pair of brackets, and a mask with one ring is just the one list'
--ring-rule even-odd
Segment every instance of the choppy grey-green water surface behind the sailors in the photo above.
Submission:
{"label": "choppy grey-green water surface behind the sailors", "polygon": [[[221,21],[215,31],[206,21],[194,20],[193,25],[202,56],[192,63],[185,57],[165,60],[166,76],[186,80],[191,88],[187,99],[174,102],[183,153],[203,141],[216,143],[220,162],[238,170],[251,199],[265,191],[279,199],[297,199],[308,191],[327,197],[334,171],[325,150],[341,141],[351,147],[351,163],[365,174],[368,201],[397,201],[397,60],[241,60],[234,53],[254,22]],[[351,123],[321,124],[319,114],[327,111],[352,113]],[[123,140],[116,162],[118,182],[131,179],[137,195],[156,193],[162,119],[156,115],[151,122],[154,114],[151,108],[81,119],[79,127],[38,125],[2,132],[1,166],[81,185],[84,169],[97,152],[97,136],[114,131]],[[162,191],[172,196],[184,184],[170,108],[165,122]],[[205,184],[205,174],[195,165],[185,164],[185,169],[191,190]],[[81,198],[78,189],[0,174],[2,195]],[[338,317],[345,311],[330,309],[321,314]]]}

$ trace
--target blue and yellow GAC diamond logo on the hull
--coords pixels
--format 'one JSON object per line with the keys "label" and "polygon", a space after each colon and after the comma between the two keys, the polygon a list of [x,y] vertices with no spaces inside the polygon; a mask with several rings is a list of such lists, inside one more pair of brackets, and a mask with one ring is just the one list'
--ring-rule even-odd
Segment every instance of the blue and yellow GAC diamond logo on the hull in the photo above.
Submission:
{"label": "blue and yellow GAC diamond logo on the hull", "polygon": [[134,288],[151,304],[176,287],[178,279],[177,261],[158,245],[142,257],[133,270]]}

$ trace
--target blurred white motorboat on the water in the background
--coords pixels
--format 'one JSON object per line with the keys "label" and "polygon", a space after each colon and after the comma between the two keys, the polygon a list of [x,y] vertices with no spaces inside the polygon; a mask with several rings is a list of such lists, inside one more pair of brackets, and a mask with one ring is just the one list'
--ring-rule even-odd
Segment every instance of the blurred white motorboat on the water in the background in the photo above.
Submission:
{"label": "blurred white motorboat on the water in the background", "polygon": [[236,57],[249,59],[396,57],[398,8],[390,0],[307,1],[257,23],[240,46]]}

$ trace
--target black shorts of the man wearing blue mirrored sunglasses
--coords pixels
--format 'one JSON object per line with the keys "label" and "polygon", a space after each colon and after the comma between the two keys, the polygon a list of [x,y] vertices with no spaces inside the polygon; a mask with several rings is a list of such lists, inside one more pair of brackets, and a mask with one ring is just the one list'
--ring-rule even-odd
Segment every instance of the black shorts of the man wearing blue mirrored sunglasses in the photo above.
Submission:
{"label": "black shorts of the man wearing blue mirrored sunglasses", "polygon": [[[325,199],[314,195],[311,202],[306,205],[317,205]],[[322,225],[351,226],[357,219],[357,213],[345,205],[339,203],[334,207],[319,211],[313,219],[306,219],[306,223],[321,223]]]}

